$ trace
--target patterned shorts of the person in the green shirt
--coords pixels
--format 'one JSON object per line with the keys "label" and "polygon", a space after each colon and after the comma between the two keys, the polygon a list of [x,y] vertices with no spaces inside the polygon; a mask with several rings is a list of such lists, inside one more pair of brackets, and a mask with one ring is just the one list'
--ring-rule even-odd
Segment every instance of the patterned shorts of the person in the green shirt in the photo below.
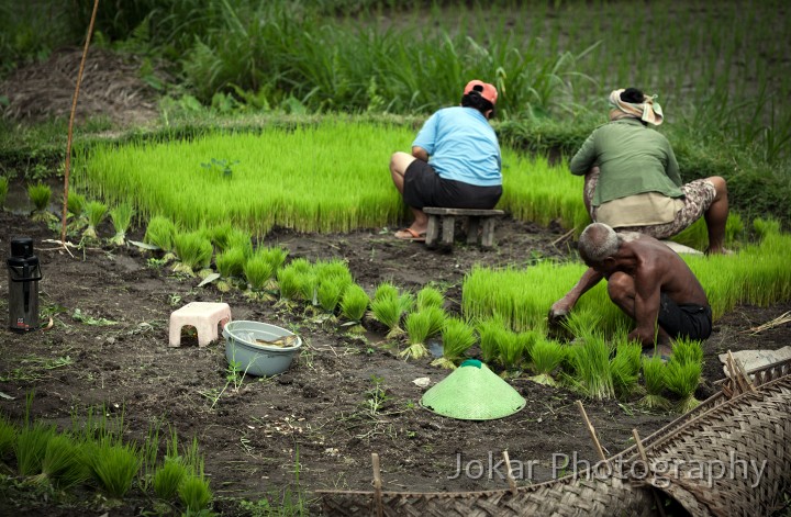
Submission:
{"label": "patterned shorts of the person in the green shirt", "polygon": [[[590,207],[590,216],[593,221],[595,221],[597,207],[591,205],[591,200],[593,199],[593,192],[595,191],[598,182],[599,168],[594,167],[586,176],[583,193],[586,206]],[[681,187],[681,191],[684,194],[684,204],[681,210],[676,212],[676,218],[673,221],[651,226],[630,226],[628,228],[622,228],[622,231],[639,232],[640,234],[650,235],[657,239],[670,238],[701,218],[716,196],[714,183],[703,179],[690,181]]]}

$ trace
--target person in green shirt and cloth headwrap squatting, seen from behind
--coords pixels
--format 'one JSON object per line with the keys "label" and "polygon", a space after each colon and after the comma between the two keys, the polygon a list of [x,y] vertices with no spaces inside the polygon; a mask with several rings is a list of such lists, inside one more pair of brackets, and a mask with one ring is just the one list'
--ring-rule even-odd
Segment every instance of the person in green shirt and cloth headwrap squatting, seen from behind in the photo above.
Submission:
{"label": "person in green shirt and cloth headwrap squatting, seen from behind", "polygon": [[682,184],[670,143],[648,127],[662,122],[653,97],[635,88],[614,90],[610,104],[610,122],[591,133],[569,164],[573,175],[586,177],[591,218],[616,231],[666,239],[704,216],[706,252],[724,252],[725,180],[713,176]]}

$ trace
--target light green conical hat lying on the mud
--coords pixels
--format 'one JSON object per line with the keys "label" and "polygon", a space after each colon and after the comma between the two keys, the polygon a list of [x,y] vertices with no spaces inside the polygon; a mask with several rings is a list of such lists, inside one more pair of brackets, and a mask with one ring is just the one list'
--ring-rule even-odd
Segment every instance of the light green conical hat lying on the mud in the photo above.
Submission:
{"label": "light green conical hat lying on the mud", "polygon": [[437,415],[461,420],[492,420],[513,415],[526,401],[482,362],[468,359],[436,383],[421,405]]}

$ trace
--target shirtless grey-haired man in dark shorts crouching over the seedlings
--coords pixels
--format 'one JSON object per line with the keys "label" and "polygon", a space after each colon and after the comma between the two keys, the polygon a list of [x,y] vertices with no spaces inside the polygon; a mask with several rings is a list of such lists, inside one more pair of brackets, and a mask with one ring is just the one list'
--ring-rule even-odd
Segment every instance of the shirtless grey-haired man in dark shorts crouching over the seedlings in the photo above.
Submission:
{"label": "shirtless grey-haired man in dark shorts crouching over the seedlings", "polygon": [[550,325],[565,318],[579,297],[604,278],[610,300],[636,323],[628,339],[639,340],[644,349],[656,346],[669,356],[671,338],[711,335],[712,312],[703,288],[681,257],[659,240],[616,234],[593,223],[580,235],[578,250],[589,269],[553,304]]}

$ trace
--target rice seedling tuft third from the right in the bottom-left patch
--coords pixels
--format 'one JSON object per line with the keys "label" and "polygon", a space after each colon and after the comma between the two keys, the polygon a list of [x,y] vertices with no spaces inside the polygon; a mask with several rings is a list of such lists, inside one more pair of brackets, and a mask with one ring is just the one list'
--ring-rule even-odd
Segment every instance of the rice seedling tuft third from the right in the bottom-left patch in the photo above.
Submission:
{"label": "rice seedling tuft third from the right in the bottom-left patch", "polygon": [[111,497],[123,498],[137,475],[141,459],[133,445],[104,438],[86,448],[90,474]]}

